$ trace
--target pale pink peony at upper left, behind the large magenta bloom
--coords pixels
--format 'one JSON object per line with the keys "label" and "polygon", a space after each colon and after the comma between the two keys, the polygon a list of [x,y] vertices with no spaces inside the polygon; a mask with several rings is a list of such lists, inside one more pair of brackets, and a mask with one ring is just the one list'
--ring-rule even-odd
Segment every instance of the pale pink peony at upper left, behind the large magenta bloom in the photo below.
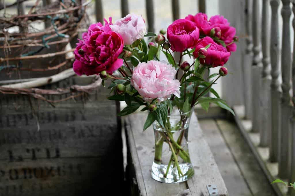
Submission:
{"label": "pale pink peony at upper left, behind the large magenta bloom", "polygon": [[110,27],[122,36],[126,45],[131,45],[137,39],[143,39],[147,31],[142,16],[136,14],[128,14]]}

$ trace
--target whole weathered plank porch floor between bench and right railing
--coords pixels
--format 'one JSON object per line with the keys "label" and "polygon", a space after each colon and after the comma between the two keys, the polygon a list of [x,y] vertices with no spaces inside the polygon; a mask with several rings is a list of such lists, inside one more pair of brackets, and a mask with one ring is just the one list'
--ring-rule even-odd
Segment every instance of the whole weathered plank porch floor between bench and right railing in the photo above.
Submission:
{"label": "whole weathered plank porch floor between bench and right railing", "polygon": [[211,117],[199,123],[229,195],[276,195],[234,121]]}

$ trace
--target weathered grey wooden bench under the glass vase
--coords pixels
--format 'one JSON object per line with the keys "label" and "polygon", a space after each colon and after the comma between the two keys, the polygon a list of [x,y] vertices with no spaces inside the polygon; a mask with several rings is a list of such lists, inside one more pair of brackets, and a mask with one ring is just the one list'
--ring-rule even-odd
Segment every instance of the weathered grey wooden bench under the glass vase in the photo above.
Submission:
{"label": "weathered grey wooden bench under the glass vase", "polygon": [[127,178],[130,194],[141,196],[224,196],[227,188],[221,177],[212,152],[204,139],[196,115],[191,117],[189,128],[189,152],[195,174],[186,182],[166,184],[151,177],[154,159],[154,133],[149,127],[142,132],[147,113],[135,113],[125,119],[127,137]]}

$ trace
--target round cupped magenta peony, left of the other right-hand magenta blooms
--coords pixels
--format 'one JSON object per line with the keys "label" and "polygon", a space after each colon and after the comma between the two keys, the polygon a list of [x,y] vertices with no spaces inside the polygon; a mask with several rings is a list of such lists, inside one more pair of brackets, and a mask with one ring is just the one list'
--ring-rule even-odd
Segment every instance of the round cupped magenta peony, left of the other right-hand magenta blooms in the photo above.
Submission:
{"label": "round cupped magenta peony, left of the other right-hand magenta blooms", "polygon": [[178,19],[167,29],[167,38],[171,44],[171,50],[183,52],[196,45],[199,39],[199,29],[192,21]]}

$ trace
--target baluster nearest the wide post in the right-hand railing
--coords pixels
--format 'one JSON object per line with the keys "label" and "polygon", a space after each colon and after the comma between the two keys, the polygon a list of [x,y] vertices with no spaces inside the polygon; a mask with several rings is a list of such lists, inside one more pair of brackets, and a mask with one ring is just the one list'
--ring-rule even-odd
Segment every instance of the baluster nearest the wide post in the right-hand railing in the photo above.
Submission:
{"label": "baluster nearest the wide post in the right-hand railing", "polygon": [[252,59],[253,59],[253,43],[252,43],[252,0],[246,0],[245,4],[245,19],[246,19],[246,54],[244,57],[243,79],[244,79],[244,97],[245,97],[245,117],[252,119]]}

